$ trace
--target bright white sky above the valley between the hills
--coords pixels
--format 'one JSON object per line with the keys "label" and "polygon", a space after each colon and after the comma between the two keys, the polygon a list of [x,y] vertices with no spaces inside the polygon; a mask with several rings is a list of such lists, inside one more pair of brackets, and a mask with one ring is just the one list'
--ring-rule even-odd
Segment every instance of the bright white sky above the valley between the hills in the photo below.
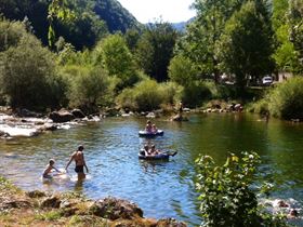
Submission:
{"label": "bright white sky above the valley between the hills", "polygon": [[154,22],[186,22],[195,16],[195,10],[189,10],[194,0],[118,0],[141,23]]}

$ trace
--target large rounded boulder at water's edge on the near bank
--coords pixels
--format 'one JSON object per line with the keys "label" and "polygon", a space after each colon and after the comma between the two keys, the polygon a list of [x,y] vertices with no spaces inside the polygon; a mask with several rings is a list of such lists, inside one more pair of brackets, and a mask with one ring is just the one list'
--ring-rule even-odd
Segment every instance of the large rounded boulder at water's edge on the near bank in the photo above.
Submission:
{"label": "large rounded boulder at water's edge on the near bank", "polygon": [[90,208],[90,212],[96,216],[111,221],[118,218],[132,219],[133,217],[143,217],[143,211],[135,203],[113,197],[96,201]]}

